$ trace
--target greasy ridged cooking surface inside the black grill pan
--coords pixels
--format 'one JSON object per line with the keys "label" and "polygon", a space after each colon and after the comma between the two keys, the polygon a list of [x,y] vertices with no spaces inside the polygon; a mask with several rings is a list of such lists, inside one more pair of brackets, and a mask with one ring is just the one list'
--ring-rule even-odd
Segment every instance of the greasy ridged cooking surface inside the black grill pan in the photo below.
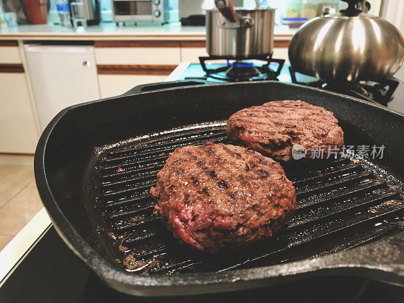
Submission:
{"label": "greasy ridged cooking surface inside the black grill pan", "polygon": [[224,123],[187,127],[100,153],[97,206],[104,218],[97,225],[111,260],[143,275],[223,271],[330,254],[400,230],[395,222],[403,221],[404,198],[398,183],[386,182],[368,161],[339,157],[283,165],[296,187],[297,209],[273,237],[219,255],[180,244],[153,214],[148,191],[175,148],[230,143],[224,130]]}

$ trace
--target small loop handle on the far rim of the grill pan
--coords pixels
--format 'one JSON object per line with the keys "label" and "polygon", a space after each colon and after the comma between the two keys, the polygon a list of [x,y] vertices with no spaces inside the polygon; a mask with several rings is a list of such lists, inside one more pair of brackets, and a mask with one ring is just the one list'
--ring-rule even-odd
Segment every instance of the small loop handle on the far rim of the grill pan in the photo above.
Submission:
{"label": "small loop handle on the far rim of the grill pan", "polygon": [[197,80],[178,80],[178,81],[170,81],[170,82],[157,82],[157,83],[149,83],[149,84],[142,84],[142,85],[135,86],[122,95],[129,96],[129,95],[138,94],[141,92],[164,90],[164,89],[185,87],[185,86],[188,87],[188,86],[209,85],[209,84],[219,84],[219,83],[214,82],[214,81],[206,81],[206,80],[199,80],[199,79],[197,79]]}

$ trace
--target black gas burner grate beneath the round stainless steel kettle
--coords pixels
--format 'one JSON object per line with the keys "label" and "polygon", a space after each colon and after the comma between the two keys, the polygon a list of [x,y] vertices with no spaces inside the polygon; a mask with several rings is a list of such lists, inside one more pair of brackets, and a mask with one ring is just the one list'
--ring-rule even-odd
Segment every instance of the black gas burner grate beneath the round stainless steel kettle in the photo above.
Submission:
{"label": "black gas burner grate beneath the round stainless steel kettle", "polygon": [[385,79],[382,83],[373,81],[334,82],[326,81],[324,79],[319,79],[318,81],[309,83],[301,83],[296,80],[296,72],[292,67],[289,67],[289,72],[292,78],[292,83],[346,94],[372,103],[381,104],[383,106],[387,106],[387,103],[393,99],[393,93],[399,84],[395,79]]}

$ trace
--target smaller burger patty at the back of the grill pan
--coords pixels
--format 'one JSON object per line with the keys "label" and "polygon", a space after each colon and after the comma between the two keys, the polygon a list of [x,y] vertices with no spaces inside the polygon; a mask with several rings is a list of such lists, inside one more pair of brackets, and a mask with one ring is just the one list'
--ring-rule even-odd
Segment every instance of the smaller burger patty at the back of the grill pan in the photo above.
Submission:
{"label": "smaller burger patty at the back of the grill pan", "polygon": [[230,116],[226,133],[238,144],[276,161],[291,160],[294,144],[306,148],[306,158],[313,153],[317,153],[313,158],[320,158],[321,153],[326,158],[344,143],[332,112],[300,100],[273,101],[238,111]]}

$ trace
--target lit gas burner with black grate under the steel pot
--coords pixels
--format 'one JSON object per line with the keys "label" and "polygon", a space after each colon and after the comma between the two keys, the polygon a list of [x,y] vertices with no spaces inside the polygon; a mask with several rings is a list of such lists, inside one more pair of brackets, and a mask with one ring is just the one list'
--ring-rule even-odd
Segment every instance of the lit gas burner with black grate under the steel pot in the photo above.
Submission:
{"label": "lit gas burner with black grate under the steel pot", "polygon": [[[209,69],[205,61],[211,60],[227,60],[227,63],[219,68]],[[230,60],[235,60],[231,62]],[[246,60],[260,60],[263,65],[256,65]],[[277,80],[285,60],[272,59],[268,56],[258,56],[249,58],[227,58],[220,56],[199,57],[200,65],[206,72],[207,77],[224,80],[228,82],[238,81],[260,81],[260,80]],[[274,62],[278,64],[277,70],[270,68],[270,64]],[[209,65],[208,65],[209,66]]]}

